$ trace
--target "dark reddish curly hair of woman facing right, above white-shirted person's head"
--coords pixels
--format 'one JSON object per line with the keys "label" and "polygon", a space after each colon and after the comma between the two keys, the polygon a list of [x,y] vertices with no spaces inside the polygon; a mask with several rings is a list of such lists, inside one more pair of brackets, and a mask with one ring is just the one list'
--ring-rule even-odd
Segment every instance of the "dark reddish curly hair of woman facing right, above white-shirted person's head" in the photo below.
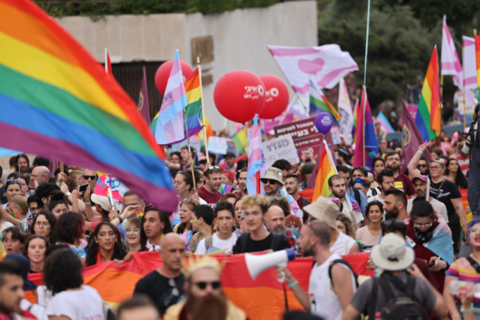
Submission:
{"label": "dark reddish curly hair of woman facing right, above white-shirted person's head", "polygon": [[83,216],[77,212],[65,212],[56,222],[54,232],[51,235],[53,242],[64,242],[73,244],[75,240],[81,238],[82,226],[85,223]]}

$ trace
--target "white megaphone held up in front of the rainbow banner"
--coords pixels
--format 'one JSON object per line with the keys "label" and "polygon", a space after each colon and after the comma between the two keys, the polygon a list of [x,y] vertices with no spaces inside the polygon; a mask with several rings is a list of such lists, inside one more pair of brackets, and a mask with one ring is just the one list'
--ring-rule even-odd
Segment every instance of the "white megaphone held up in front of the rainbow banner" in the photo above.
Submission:
{"label": "white megaphone held up in front of the rainbow banner", "polygon": [[287,266],[287,262],[293,259],[295,259],[295,251],[293,249],[280,250],[274,253],[267,253],[266,255],[245,254],[245,262],[252,280],[255,280],[260,273],[273,266]]}

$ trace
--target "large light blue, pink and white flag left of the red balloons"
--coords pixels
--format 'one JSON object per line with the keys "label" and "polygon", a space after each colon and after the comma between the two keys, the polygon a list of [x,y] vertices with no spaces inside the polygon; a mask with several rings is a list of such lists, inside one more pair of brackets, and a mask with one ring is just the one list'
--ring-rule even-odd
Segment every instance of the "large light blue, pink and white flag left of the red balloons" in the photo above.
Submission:
{"label": "large light blue, pink and white flag left of the red balloons", "polygon": [[155,139],[159,145],[169,145],[186,139],[183,111],[187,104],[177,49],[155,128]]}

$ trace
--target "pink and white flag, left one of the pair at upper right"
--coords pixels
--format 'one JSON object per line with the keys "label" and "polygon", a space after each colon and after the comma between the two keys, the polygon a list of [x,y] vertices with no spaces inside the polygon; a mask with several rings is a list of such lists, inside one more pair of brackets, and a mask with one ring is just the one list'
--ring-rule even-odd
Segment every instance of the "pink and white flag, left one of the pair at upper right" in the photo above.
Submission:
{"label": "pink and white flag, left one of the pair at upper right", "polygon": [[456,54],[454,40],[451,38],[447,26],[447,16],[443,16],[442,32],[442,75],[451,74],[454,77],[454,84],[463,90],[463,71],[458,54]]}

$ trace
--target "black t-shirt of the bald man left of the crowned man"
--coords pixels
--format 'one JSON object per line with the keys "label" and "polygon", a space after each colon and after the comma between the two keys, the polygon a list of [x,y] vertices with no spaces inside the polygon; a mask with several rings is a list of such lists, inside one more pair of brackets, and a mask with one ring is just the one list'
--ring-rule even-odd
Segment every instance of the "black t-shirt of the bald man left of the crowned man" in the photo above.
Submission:
{"label": "black t-shirt of the bald man left of the crowned man", "polygon": [[[178,291],[177,296],[173,294],[174,287],[168,283],[170,280],[175,280],[175,288]],[[155,270],[136,282],[134,294],[146,294],[149,296],[159,313],[163,315],[170,305],[175,305],[175,303],[183,300],[184,282],[185,277],[183,273],[177,278],[170,279]]]}

